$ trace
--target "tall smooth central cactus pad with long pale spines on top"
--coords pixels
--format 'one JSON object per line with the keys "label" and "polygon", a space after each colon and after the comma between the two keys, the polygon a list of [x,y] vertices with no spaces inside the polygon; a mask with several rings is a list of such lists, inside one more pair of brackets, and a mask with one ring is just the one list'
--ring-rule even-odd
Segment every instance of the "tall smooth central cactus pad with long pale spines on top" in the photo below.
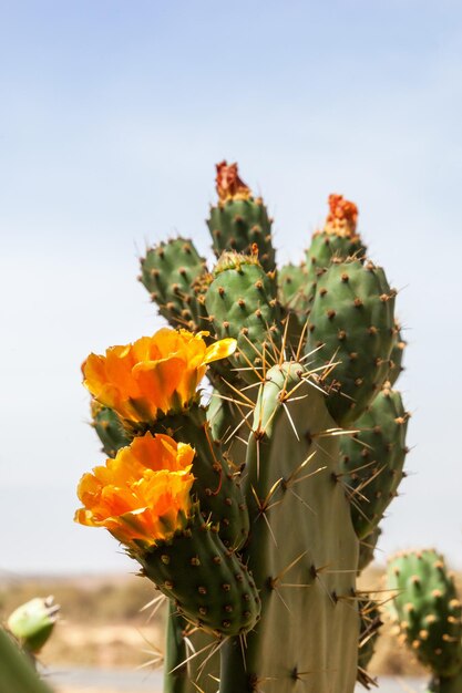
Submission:
{"label": "tall smooth central cactus pad with long pale spines on top", "polygon": [[253,521],[243,559],[261,597],[261,620],[244,649],[237,639],[223,645],[220,693],[353,690],[358,541],[337,483],[338,436],[328,433],[335,424],[305,375],[295,363],[270,369],[255,408],[244,482]]}

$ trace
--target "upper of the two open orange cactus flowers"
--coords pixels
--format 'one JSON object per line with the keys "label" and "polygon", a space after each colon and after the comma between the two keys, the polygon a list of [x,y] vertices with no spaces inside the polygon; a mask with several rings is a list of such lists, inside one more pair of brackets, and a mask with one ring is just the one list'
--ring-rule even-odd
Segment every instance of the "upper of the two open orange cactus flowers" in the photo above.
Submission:
{"label": "upper of the two open orange cactus flowers", "polygon": [[229,356],[236,340],[209,346],[204,337],[163,328],[105,355],[90,354],[82,365],[84,385],[104,406],[134,423],[154,422],[160,413],[179,412],[195,400],[207,364]]}

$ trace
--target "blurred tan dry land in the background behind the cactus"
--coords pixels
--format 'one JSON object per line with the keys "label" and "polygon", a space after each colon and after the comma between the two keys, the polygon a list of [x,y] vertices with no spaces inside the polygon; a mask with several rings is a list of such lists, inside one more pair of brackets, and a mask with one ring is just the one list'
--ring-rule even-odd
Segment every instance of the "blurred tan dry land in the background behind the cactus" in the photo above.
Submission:
{"label": "blurred tan dry land in the background behind the cactus", "polygon": [[[456,576],[462,594],[462,575]],[[369,568],[360,578],[360,590],[378,590],[382,601],[383,570]],[[0,576],[0,620],[33,597],[53,594],[61,604],[61,621],[43,648],[45,665],[126,666],[146,665],[158,660],[163,650],[165,609],[152,617],[142,610],[158,596],[148,580],[134,575],[74,578],[2,578]],[[409,650],[400,648],[387,618],[370,664],[374,675],[425,675]]]}

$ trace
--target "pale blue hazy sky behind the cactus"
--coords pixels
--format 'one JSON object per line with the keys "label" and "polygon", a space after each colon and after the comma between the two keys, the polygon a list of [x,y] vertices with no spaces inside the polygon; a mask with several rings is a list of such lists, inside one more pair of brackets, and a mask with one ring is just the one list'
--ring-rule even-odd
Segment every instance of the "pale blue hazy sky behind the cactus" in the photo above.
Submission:
{"label": "pale blue hazy sky behind the cactus", "polygon": [[400,289],[410,477],[381,556],[462,567],[462,6],[444,0],[0,0],[0,570],[124,570],[74,526],[103,461],[80,364],[162,322],[146,244],[203,252],[238,161],[298,261],[329,193]]}

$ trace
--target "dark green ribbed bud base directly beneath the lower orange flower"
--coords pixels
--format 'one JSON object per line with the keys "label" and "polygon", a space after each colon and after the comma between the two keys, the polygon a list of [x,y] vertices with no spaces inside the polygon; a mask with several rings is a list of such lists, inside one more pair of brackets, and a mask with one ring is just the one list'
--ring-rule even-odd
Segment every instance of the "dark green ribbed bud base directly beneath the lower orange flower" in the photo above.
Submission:
{"label": "dark green ribbed bud base directly beneath the lower orange flower", "polygon": [[237,635],[255,627],[260,599],[253,577],[201,513],[170,541],[131,555],[177,612],[206,632]]}

